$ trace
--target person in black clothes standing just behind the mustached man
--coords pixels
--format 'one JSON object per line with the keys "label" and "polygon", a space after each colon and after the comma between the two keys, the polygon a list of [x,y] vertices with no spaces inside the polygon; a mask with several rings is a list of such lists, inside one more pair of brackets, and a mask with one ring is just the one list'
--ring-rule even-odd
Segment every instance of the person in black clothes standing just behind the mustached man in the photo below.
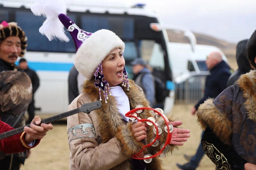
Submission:
{"label": "person in black clothes standing just behind the mustached man", "polygon": [[27,60],[24,58],[21,58],[19,61],[19,67],[20,69],[24,70],[25,73],[29,76],[31,82],[32,82],[32,101],[31,103],[28,105],[28,115],[29,115],[29,119],[27,121],[26,124],[32,122],[32,120],[35,117],[35,100],[34,100],[34,93],[36,92],[36,90],[39,87],[39,77],[36,74],[36,72],[32,69],[30,69],[28,67],[28,63]]}

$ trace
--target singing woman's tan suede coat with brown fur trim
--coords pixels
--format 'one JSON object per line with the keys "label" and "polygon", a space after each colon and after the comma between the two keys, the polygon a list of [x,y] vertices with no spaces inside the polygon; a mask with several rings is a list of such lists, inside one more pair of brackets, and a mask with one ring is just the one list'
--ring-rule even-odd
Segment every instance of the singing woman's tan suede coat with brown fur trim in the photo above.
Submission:
{"label": "singing woman's tan suede coat with brown fur trim", "polygon": [[[87,81],[83,85],[83,93],[79,95],[69,106],[69,110],[81,107],[84,103],[99,100],[99,90],[95,88],[95,81]],[[130,109],[137,105],[148,107],[143,91],[132,80],[129,80],[130,88],[123,87],[129,98]],[[67,118],[67,133],[70,147],[70,170],[137,170],[137,165],[145,164],[147,170],[162,170],[162,160],[153,158],[146,164],[143,160],[134,164],[131,156],[137,154],[143,147],[131,133],[133,122],[125,123],[118,112],[118,103],[111,96],[108,103],[102,102],[102,107],[91,111],[90,114],[78,113]],[[152,117],[150,110],[144,110],[139,114],[141,119]],[[169,118],[169,121],[174,121]],[[165,122],[162,117],[157,120],[159,126],[164,129]],[[154,126],[147,128],[146,143],[155,137]],[[165,143],[167,133],[163,131],[157,147],[149,147],[145,151],[151,155],[160,150],[160,145]],[[176,147],[170,146],[170,152]],[[134,166],[136,165],[136,166]],[[143,170],[145,167],[143,168]]]}

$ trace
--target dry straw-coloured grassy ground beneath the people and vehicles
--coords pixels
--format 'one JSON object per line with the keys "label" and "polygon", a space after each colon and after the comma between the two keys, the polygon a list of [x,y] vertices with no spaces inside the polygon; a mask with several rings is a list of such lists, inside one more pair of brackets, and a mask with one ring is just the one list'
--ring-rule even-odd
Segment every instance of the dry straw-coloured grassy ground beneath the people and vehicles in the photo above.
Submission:
{"label": "dry straw-coloured grassy ground beneath the people and vehicles", "polygon": [[[234,58],[228,58],[231,68],[236,70]],[[175,104],[170,114],[183,122],[184,129],[190,130],[190,138],[172,154],[163,158],[166,170],[179,170],[176,163],[186,163],[184,154],[193,155],[200,143],[201,129],[196,122],[196,116],[190,114],[193,105]],[[41,115],[39,115],[41,116]],[[46,117],[47,118],[47,117]],[[69,145],[67,143],[66,122],[53,123],[54,129],[48,132],[41,143],[31,149],[30,157],[21,170],[69,170]],[[197,170],[214,170],[214,164],[205,155]]]}

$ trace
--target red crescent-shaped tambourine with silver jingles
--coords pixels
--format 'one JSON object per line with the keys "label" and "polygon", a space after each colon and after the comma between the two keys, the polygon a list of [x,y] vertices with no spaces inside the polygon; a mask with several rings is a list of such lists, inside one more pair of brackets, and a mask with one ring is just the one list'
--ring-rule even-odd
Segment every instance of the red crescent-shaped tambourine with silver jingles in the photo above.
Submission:
{"label": "red crescent-shaped tambourine with silver jingles", "polygon": [[[141,119],[139,115],[144,110],[152,110],[154,114],[152,114],[152,117],[148,117],[147,119]],[[153,125],[155,126],[153,130],[155,137],[151,138],[150,143],[145,144],[138,154],[133,155],[132,156],[133,159],[143,159],[144,162],[150,163],[153,158],[157,156],[161,156],[161,154],[167,153],[170,150],[169,144],[172,138],[173,126],[170,124],[168,118],[164,115],[164,111],[161,108],[154,109],[154,108],[143,107],[142,105],[138,105],[136,106],[135,109],[127,112],[125,116],[129,117],[129,119],[132,121],[135,121],[137,119],[138,122],[145,122],[149,126],[153,126]],[[159,117],[162,117],[166,123],[166,125],[164,126],[164,130],[156,122],[156,118],[159,118]],[[154,155],[145,153],[147,147],[157,147],[159,145],[159,139],[161,137],[161,134],[163,133],[167,133],[167,138],[166,138],[166,142],[164,144],[161,144],[160,151],[158,151]]]}

